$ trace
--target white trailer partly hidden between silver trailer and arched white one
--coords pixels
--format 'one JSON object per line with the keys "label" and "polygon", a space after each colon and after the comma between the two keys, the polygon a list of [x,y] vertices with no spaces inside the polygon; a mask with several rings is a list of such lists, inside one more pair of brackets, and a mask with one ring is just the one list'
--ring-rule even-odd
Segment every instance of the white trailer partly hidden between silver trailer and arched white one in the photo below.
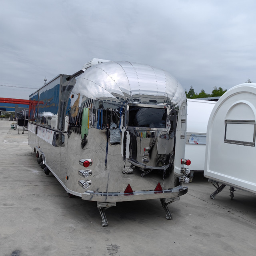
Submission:
{"label": "white trailer partly hidden between silver trailer and arched white one", "polygon": [[207,124],[215,101],[187,99],[187,136],[185,158],[191,160],[190,181],[194,172],[204,171]]}

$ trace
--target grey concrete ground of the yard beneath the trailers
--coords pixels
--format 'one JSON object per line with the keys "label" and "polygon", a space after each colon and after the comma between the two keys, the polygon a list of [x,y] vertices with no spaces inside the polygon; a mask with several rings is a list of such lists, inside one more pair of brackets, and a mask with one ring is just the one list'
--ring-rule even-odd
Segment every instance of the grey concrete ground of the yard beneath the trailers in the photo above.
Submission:
{"label": "grey concrete ground of the yard beneath the trailers", "polygon": [[[169,205],[121,202],[101,226],[96,202],[69,198],[45,175],[28,146],[28,132],[0,121],[0,256],[255,255],[256,195],[215,190],[202,174]],[[31,154],[32,153],[32,154]]]}

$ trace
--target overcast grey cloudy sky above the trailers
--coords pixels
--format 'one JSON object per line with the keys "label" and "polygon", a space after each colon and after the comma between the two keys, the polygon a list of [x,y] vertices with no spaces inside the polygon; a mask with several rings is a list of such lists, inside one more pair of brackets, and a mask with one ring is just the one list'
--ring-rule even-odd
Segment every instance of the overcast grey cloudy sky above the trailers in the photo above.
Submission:
{"label": "overcast grey cloudy sky above the trailers", "polygon": [[28,99],[93,58],[211,93],[256,82],[255,0],[0,0],[0,98]]}

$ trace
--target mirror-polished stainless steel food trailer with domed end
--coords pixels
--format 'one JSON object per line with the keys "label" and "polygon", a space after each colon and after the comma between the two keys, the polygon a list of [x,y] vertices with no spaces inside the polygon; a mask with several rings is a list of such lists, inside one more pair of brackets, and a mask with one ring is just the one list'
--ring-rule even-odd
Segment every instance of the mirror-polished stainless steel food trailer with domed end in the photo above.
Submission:
{"label": "mirror-polished stainless steel food trailer with domed end", "polygon": [[97,202],[102,226],[120,201],[159,198],[171,219],[188,190],[186,106],[168,72],[93,59],[30,95],[28,142],[69,195]]}

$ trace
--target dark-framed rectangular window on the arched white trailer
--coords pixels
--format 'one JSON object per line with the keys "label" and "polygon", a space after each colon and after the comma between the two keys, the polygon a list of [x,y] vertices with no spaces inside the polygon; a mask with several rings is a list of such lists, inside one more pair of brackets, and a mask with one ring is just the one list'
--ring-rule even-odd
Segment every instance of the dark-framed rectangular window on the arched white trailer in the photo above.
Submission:
{"label": "dark-framed rectangular window on the arched white trailer", "polygon": [[255,146],[254,120],[226,120],[225,143]]}

